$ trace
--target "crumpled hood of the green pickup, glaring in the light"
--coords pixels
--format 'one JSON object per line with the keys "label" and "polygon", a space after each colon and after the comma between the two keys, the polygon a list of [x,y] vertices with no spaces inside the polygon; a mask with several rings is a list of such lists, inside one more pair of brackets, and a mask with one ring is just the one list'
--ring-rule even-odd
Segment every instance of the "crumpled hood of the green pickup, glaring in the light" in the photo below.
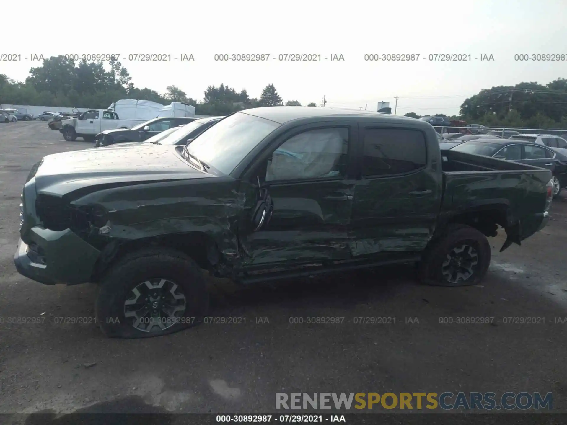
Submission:
{"label": "crumpled hood of the green pickup, glaring in the light", "polygon": [[175,146],[141,143],[45,156],[35,172],[37,193],[62,196],[86,186],[214,177],[189,165]]}

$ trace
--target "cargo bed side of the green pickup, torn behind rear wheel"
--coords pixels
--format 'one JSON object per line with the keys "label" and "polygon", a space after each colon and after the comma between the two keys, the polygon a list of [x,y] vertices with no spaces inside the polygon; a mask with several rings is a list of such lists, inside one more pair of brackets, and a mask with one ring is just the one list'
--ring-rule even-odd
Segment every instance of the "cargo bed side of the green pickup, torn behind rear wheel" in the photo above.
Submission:
{"label": "cargo bed side of the green pickup, torn behind rear wheel", "polygon": [[441,156],[442,215],[494,211],[497,223],[509,236],[516,233],[518,243],[544,223],[547,184],[552,176],[548,169],[451,150],[442,150]]}

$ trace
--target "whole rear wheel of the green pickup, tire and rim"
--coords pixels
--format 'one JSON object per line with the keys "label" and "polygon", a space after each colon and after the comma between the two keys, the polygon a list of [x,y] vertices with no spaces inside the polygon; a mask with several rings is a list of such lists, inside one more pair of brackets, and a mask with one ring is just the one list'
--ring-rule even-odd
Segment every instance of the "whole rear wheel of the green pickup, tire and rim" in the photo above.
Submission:
{"label": "whole rear wheel of the green pickup, tire and rim", "polygon": [[490,244],[475,228],[457,225],[430,242],[419,267],[420,281],[433,286],[471,286],[490,265]]}

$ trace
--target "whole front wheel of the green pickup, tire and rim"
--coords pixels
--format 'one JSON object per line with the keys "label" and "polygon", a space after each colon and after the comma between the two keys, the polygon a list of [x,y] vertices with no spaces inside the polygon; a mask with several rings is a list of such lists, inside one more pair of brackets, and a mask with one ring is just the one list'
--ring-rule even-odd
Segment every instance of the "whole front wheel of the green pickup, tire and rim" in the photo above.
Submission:
{"label": "whole front wheel of the green pickup, tire and rim", "polygon": [[147,338],[201,323],[209,307],[197,264],[167,248],[127,254],[102,279],[95,311],[107,337]]}

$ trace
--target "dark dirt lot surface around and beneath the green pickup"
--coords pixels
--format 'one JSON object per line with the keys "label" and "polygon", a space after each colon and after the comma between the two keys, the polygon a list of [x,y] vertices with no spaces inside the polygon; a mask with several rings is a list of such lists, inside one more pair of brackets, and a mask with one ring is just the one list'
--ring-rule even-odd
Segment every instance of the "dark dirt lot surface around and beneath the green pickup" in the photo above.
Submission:
{"label": "dark dirt lot surface around and beneath the green pickup", "polygon": [[[503,237],[491,240],[493,262],[479,286],[420,286],[411,267],[298,279],[215,300],[211,315],[246,324],[106,339],[94,324],[56,323],[90,320],[93,285],[45,286],[12,262],[32,164],[91,146],[65,142],[44,122],[0,124],[0,413],[273,413],[277,392],[387,391],[552,392],[553,410],[567,411],[566,193],[553,202],[549,225],[522,247],[498,253]],[[317,316],[344,322],[290,324]],[[493,323],[439,323],[479,316]],[[9,317],[45,319],[18,325]],[[354,317],[395,317],[395,324],[354,324]],[[507,324],[510,317],[545,322]]]}

